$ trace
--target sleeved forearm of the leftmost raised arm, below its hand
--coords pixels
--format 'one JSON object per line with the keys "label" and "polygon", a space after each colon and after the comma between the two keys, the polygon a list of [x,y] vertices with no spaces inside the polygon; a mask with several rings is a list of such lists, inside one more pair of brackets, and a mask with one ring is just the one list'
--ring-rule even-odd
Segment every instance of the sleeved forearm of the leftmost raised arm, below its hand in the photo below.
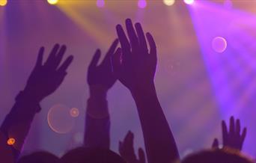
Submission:
{"label": "sleeved forearm of the leftmost raised arm, below its hand", "polygon": [[13,156],[16,159],[22,150],[22,145],[28,135],[34,115],[40,110],[39,102],[28,98],[27,95],[28,93],[25,91],[19,93],[13,108],[1,124],[1,132],[5,138],[13,138],[15,140],[15,143],[10,147],[12,147]]}

